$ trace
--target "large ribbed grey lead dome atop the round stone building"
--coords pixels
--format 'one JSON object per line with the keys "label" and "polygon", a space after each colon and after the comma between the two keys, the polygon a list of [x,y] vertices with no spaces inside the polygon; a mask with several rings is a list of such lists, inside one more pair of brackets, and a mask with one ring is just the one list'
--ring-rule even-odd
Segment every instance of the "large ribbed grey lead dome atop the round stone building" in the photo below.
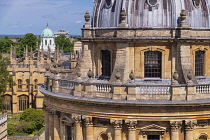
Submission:
{"label": "large ribbed grey lead dome atop the round stone building", "polygon": [[210,0],[95,0],[93,27],[118,27],[125,9],[131,28],[174,28],[180,12],[187,12],[187,24],[193,29],[209,28]]}

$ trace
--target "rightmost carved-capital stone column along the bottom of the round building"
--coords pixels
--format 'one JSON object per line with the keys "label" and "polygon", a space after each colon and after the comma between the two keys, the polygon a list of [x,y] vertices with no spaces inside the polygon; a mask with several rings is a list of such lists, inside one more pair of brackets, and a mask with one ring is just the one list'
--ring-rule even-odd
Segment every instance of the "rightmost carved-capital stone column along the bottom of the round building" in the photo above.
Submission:
{"label": "rightmost carved-capital stone column along the bottom of the round building", "polygon": [[196,120],[185,121],[185,140],[193,140],[193,129],[196,123]]}

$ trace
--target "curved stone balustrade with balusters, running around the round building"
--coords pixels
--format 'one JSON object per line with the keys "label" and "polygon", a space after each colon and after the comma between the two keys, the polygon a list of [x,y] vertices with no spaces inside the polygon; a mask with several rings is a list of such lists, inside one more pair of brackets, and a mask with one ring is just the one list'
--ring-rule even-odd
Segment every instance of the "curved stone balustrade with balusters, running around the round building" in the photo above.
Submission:
{"label": "curved stone balustrade with balusters, running around the round building", "polygon": [[[127,83],[109,82],[98,78],[69,80],[47,77],[45,88],[54,93],[76,97],[105,98],[113,100],[200,100],[210,98],[210,83],[174,84],[170,79],[135,79]],[[206,79],[208,81],[208,78]]]}

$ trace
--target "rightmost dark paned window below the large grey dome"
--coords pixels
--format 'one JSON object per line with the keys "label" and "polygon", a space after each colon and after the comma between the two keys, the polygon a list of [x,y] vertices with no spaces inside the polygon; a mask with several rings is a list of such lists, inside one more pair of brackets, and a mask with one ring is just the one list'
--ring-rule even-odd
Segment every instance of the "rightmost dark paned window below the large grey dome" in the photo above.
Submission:
{"label": "rightmost dark paned window below the large grey dome", "polygon": [[195,52],[195,76],[203,76],[205,51]]}

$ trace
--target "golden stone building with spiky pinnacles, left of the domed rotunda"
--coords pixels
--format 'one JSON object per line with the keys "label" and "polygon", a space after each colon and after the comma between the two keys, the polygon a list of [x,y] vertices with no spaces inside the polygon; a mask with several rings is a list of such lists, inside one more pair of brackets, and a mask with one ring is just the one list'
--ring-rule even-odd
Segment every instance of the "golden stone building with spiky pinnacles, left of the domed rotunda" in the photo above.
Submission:
{"label": "golden stone building with spiky pinnacles, left of the domed rotunda", "polygon": [[[54,56],[52,57],[52,53]],[[38,87],[45,82],[44,74],[48,70],[49,65],[60,63],[60,69],[68,70],[70,61],[65,60],[59,49],[55,52],[44,52],[44,49],[35,51],[28,50],[25,47],[24,56],[16,57],[15,48],[10,50],[11,64],[7,66],[7,70],[13,76],[16,83],[12,87],[7,87],[4,93],[4,108],[8,113],[20,113],[27,108],[43,109],[44,95],[38,90]]]}

